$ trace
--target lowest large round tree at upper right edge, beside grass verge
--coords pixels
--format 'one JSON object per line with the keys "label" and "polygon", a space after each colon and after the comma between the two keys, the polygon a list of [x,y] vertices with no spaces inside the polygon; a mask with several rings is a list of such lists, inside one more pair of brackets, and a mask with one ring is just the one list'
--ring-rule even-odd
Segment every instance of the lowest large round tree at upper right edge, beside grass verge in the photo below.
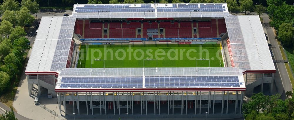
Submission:
{"label": "lowest large round tree at upper right edge, beside grass verge", "polygon": [[291,23],[283,23],[279,27],[278,39],[286,46],[292,47],[294,43],[294,27]]}

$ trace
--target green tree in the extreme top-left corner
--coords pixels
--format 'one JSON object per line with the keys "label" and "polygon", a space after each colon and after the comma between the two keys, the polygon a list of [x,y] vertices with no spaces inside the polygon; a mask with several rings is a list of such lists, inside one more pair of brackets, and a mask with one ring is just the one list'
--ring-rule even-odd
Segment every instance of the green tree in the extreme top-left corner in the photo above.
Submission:
{"label": "green tree in the extreme top-left corner", "polygon": [[0,6],[1,13],[3,13],[6,10],[10,11],[17,11],[19,10],[19,2],[15,0],[3,0],[3,4]]}

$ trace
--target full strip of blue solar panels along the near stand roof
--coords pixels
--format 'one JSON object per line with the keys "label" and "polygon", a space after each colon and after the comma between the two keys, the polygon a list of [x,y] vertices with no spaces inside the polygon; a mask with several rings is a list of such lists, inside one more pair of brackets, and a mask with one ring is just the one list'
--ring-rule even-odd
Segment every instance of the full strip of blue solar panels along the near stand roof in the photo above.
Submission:
{"label": "full strip of blue solar panels along the near stand roof", "polygon": [[62,77],[60,88],[238,88],[238,76]]}

